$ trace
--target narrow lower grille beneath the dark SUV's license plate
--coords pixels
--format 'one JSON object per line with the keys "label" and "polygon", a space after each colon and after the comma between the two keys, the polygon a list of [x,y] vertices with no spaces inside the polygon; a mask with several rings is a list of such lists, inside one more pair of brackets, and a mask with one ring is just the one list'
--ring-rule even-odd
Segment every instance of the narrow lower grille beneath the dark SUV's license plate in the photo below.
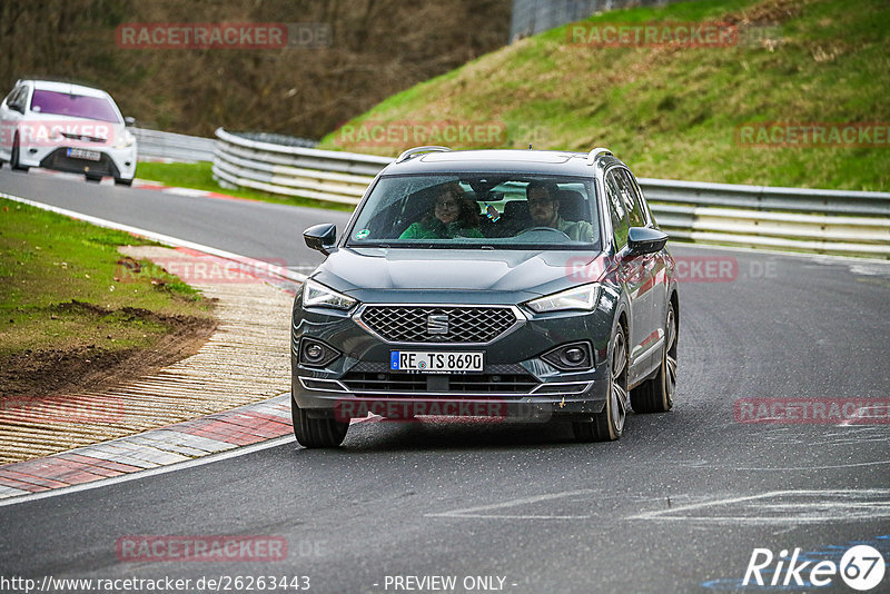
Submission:
{"label": "narrow lower grille beneath the dark SUV's license plate", "polygon": [[390,374],[350,372],[340,382],[355,393],[457,393],[457,394],[528,394],[536,386],[537,379],[530,374],[448,374],[435,376],[442,386],[431,389],[423,374]]}

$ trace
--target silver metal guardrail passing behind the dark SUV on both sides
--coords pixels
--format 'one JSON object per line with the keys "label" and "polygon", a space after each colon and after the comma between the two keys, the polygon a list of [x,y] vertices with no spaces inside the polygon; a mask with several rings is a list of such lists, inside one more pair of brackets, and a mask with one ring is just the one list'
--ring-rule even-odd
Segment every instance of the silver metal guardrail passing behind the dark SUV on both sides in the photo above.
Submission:
{"label": "silver metal guardrail passing behind the dark SUV on both sides", "polygon": [[[356,205],[393,161],[258,142],[219,128],[214,177],[274,194]],[[704,244],[890,258],[890,192],[640,178],[659,225]]]}

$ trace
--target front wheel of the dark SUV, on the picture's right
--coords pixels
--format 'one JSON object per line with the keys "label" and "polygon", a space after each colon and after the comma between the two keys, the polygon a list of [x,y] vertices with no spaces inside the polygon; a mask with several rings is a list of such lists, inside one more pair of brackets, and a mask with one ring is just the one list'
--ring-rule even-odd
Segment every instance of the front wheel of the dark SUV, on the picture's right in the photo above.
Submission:
{"label": "front wheel of the dark SUV, on the picture's right", "polygon": [[627,334],[619,325],[612,337],[609,356],[609,397],[593,420],[574,422],[572,429],[578,442],[614,442],[624,432],[627,418]]}

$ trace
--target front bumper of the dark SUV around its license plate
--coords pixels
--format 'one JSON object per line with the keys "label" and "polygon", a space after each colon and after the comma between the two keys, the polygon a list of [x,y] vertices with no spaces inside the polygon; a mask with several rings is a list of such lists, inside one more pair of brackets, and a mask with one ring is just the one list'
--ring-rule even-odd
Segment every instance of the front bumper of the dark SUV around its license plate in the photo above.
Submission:
{"label": "front bumper of the dark SUV around its license plate", "polygon": [[[445,305],[445,304],[443,304]],[[514,306],[515,307],[515,306]],[[314,416],[338,420],[367,416],[475,416],[548,420],[589,419],[605,406],[611,316],[605,311],[520,311],[517,324],[483,345],[390,343],[356,313],[304,309],[300,294],[291,328],[291,394]],[[340,355],[324,367],[300,363],[300,340],[320,340]],[[541,356],[564,344],[587,341],[593,366],[560,370]],[[389,369],[392,350],[479,352],[481,374],[413,374]]]}

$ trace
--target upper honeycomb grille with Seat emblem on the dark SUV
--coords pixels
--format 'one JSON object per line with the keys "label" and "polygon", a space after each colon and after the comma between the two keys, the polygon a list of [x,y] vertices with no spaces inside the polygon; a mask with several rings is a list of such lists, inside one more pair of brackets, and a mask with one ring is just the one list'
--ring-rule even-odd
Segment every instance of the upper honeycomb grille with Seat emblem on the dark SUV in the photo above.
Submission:
{"label": "upper honeycomb grille with Seat emblem on the dark SUV", "polygon": [[369,305],[360,319],[390,343],[491,343],[517,323],[510,307],[473,306]]}

